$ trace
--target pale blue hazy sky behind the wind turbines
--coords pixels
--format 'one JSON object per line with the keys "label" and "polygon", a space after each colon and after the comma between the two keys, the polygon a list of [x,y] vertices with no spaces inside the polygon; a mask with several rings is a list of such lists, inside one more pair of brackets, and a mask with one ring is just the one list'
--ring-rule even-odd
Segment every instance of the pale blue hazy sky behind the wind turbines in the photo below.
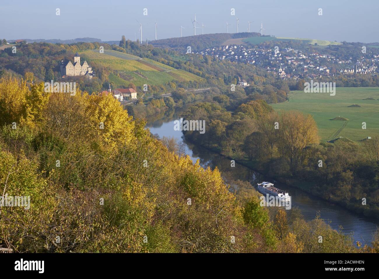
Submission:
{"label": "pale blue hazy sky behind the wind turbines", "polygon": [[[60,16],[56,16],[60,8]],[[147,8],[148,15],[143,15]],[[230,15],[235,9],[236,16]],[[318,15],[318,9],[323,15]],[[139,38],[139,20],[143,40],[193,35],[191,18],[206,25],[205,33],[258,32],[261,21],[264,34],[281,37],[326,39],[349,42],[378,42],[379,0],[0,0],[0,38],[119,40],[121,35]],[[149,23],[149,24],[148,24]],[[196,29],[201,34],[201,29]]]}

